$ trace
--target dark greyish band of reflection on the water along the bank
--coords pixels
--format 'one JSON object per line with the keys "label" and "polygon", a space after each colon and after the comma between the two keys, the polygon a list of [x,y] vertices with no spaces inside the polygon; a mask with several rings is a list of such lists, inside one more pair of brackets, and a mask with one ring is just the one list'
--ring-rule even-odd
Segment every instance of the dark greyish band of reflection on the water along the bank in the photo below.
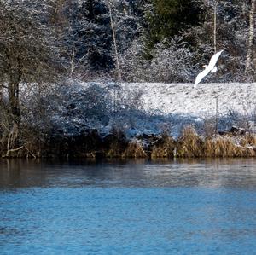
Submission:
{"label": "dark greyish band of reflection on the water along the bank", "polygon": [[256,187],[255,159],[51,163],[0,161],[0,188]]}

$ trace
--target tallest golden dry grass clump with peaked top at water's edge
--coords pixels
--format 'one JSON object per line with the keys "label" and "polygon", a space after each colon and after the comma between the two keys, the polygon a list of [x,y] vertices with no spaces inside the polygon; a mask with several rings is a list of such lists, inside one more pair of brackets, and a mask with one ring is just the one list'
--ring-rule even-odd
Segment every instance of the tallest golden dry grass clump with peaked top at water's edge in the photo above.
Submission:
{"label": "tallest golden dry grass clump with peaked top at water's edge", "polygon": [[183,130],[182,136],[177,142],[177,156],[182,158],[197,158],[203,156],[203,140],[196,133],[193,126]]}

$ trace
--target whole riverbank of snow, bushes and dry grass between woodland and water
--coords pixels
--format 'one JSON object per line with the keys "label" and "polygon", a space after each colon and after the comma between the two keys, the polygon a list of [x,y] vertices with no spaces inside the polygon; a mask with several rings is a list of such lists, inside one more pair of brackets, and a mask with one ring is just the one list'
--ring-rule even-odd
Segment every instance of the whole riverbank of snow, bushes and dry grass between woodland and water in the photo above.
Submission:
{"label": "whole riverbank of snow, bushes and dry grass between woodland and water", "polygon": [[20,87],[19,127],[2,101],[3,157],[256,156],[256,84],[200,84],[195,90],[192,84],[66,80],[43,92],[38,84]]}

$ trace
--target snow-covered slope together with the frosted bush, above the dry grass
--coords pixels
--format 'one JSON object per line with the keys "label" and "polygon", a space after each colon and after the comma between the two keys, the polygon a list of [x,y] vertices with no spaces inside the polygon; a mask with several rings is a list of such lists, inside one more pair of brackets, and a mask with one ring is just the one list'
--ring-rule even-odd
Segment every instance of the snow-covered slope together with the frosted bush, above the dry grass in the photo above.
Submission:
{"label": "snow-covered slope together with the frosted bush, above the dry grass", "polygon": [[52,123],[67,134],[92,128],[104,135],[115,126],[130,137],[163,130],[177,137],[187,125],[201,133],[206,123],[215,128],[216,117],[220,130],[232,125],[256,130],[255,83],[198,84],[194,89],[193,84],[69,80],[48,95]]}

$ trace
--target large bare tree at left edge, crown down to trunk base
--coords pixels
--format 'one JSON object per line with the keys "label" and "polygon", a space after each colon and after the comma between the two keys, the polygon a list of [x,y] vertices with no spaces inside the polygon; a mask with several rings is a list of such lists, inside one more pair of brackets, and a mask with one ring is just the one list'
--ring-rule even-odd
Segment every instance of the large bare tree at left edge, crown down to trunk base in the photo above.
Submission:
{"label": "large bare tree at left edge, crown down to trunk base", "polygon": [[51,13],[51,0],[0,0],[0,82],[4,89],[0,138],[7,156],[26,147],[21,138],[21,91],[54,81],[61,69]]}

